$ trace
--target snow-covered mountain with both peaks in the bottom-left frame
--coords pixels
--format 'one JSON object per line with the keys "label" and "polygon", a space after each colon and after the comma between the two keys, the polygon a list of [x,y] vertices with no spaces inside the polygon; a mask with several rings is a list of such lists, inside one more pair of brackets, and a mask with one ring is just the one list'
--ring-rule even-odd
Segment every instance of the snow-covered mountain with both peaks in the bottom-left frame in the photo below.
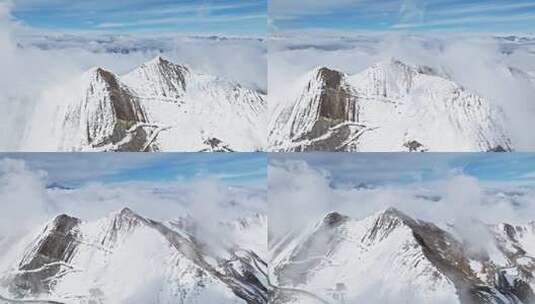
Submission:
{"label": "snow-covered mountain with both peaks in the bottom-left frame", "polygon": [[[265,218],[240,223],[223,230]],[[267,265],[247,239],[216,251],[127,208],[91,222],[59,215],[0,255],[0,302],[267,303]]]}

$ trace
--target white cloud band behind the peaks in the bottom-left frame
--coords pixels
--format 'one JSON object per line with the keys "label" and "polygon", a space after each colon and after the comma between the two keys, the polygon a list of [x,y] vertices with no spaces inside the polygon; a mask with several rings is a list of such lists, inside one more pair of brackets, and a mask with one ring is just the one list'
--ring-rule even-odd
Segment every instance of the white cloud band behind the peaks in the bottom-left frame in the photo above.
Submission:
{"label": "white cloud band behind the peaks in the bottom-left frame", "polygon": [[[9,246],[11,238],[40,229],[62,213],[93,221],[128,207],[162,222],[192,218],[198,225],[197,237],[216,250],[235,244],[232,238],[241,237],[223,231],[220,223],[267,212],[265,189],[232,188],[208,177],[190,181],[89,183],[71,190],[47,189],[49,182],[46,171],[31,169],[25,161],[0,160],[0,248]],[[258,237],[261,244],[261,236]]]}

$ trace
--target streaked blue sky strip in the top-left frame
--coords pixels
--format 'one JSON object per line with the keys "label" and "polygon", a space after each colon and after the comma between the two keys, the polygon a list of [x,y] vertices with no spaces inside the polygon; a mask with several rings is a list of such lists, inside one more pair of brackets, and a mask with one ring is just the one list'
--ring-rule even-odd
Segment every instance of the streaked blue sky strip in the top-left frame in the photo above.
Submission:
{"label": "streaked blue sky strip in the top-left frame", "polygon": [[45,30],[262,35],[267,28],[267,0],[15,0],[14,3],[15,19]]}

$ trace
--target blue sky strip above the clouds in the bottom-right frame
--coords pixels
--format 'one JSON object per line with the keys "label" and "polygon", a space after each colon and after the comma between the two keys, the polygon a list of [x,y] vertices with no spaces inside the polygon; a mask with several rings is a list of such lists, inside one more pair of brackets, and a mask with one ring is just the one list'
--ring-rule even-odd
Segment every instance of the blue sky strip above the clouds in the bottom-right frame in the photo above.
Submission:
{"label": "blue sky strip above the clouds in the bottom-right frame", "polygon": [[325,170],[333,181],[411,183],[459,174],[488,182],[535,186],[535,153],[272,153],[273,165],[305,161]]}

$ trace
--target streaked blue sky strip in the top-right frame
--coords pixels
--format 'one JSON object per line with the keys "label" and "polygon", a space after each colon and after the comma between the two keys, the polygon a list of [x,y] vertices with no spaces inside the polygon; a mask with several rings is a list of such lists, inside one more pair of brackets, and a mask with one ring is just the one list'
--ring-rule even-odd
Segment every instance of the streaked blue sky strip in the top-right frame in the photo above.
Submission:
{"label": "streaked blue sky strip in the top-right frame", "polygon": [[535,32],[533,0],[270,0],[275,30]]}

